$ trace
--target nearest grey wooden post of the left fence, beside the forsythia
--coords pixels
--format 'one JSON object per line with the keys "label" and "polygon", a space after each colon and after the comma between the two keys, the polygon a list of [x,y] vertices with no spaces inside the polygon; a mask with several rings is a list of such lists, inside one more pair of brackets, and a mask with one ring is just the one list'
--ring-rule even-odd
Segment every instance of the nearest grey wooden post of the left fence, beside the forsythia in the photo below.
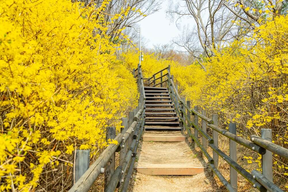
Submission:
{"label": "nearest grey wooden post of the left fence, beside the forsythia", "polygon": [[75,157],[72,185],[74,185],[79,178],[88,170],[90,164],[90,149],[73,151],[73,157]]}

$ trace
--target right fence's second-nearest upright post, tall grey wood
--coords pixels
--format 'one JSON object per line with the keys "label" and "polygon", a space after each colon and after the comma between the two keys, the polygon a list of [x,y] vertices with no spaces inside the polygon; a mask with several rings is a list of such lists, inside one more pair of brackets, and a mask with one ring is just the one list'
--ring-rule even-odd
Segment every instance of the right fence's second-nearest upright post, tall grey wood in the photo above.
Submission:
{"label": "right fence's second-nearest upright post, tall grey wood", "polygon": [[[229,132],[236,135],[236,123],[229,123]],[[230,158],[237,162],[236,142],[229,139]],[[230,185],[237,191],[237,171],[230,166]]]}

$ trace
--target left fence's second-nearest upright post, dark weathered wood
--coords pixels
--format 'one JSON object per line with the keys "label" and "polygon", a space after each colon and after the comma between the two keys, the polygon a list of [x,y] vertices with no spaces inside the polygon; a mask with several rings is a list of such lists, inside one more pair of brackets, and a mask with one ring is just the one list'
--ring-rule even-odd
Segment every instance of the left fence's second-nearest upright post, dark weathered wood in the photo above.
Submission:
{"label": "left fence's second-nearest upright post, dark weathered wood", "polygon": [[[107,127],[106,130],[106,141],[108,139],[114,139],[116,136],[116,128],[115,127]],[[106,189],[109,181],[111,180],[111,177],[115,170],[115,153],[113,153],[112,157],[110,158],[109,162],[106,165],[105,168],[105,181],[104,181],[104,188]]]}

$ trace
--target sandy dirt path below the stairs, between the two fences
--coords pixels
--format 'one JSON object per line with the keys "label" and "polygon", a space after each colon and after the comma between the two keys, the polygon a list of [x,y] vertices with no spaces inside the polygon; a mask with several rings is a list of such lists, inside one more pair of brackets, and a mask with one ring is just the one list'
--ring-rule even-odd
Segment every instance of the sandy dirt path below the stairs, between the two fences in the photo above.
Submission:
{"label": "sandy dirt path below the stairs, between the two fences", "polygon": [[[146,131],[145,136],[183,136],[180,131]],[[187,140],[187,139],[186,139]],[[187,141],[153,142],[143,141],[135,167],[146,166],[198,166],[207,167],[202,160],[202,153],[191,150]],[[222,191],[213,179],[212,171],[192,176],[147,175],[134,170],[128,191],[133,192],[208,192]]]}

